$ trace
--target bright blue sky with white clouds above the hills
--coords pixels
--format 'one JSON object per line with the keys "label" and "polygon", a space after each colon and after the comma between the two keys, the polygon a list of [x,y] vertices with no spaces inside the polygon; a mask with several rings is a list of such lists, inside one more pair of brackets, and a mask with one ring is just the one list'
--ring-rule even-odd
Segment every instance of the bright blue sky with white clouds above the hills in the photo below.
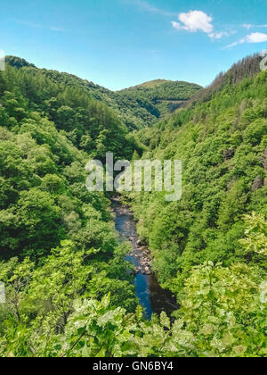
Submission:
{"label": "bright blue sky with white clouds above the hills", "polygon": [[267,0],[1,0],[0,50],[110,89],[206,86],[267,47]]}

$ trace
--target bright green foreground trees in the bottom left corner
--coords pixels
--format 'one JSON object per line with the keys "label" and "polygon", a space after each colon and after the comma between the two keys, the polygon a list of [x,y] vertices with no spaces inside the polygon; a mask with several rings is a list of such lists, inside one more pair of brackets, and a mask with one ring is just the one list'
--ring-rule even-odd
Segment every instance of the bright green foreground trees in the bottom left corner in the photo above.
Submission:
{"label": "bright green foreground trees in the bottom left corner", "polygon": [[[112,264],[97,261],[98,253],[97,249],[78,252],[71,242],[65,241],[37,267],[28,258],[23,262],[13,258],[0,264],[0,278],[7,296],[5,306],[1,307],[0,321],[4,331],[0,350],[4,350],[5,355],[48,354],[42,352],[47,341],[59,337],[65,330],[67,321],[71,321],[70,315],[76,311],[76,301],[101,296],[98,279],[106,284],[109,278],[103,271],[99,273],[99,268],[108,273]],[[125,290],[128,303],[132,298],[132,308],[135,308],[133,288],[125,282],[121,291]],[[123,296],[118,302],[129,308]],[[112,298],[111,303],[114,305]],[[20,346],[21,339],[27,341],[26,346]]]}

